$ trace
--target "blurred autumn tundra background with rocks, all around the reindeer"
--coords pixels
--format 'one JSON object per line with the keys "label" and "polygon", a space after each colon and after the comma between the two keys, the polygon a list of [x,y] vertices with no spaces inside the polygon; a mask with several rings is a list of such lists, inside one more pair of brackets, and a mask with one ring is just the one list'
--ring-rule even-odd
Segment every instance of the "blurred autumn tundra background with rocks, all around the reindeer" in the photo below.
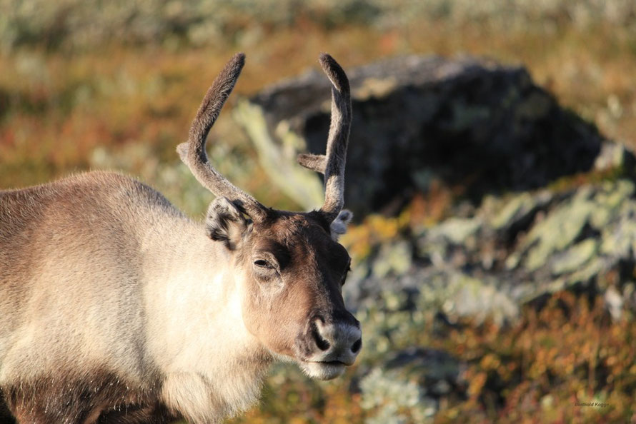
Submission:
{"label": "blurred autumn tundra background with rocks, all around the reindeer", "polygon": [[202,217],[175,146],[236,51],[208,151],[275,208],[319,200],[318,54],[352,76],[364,348],[232,422],[636,422],[635,1],[0,0],[0,187],[110,168]]}

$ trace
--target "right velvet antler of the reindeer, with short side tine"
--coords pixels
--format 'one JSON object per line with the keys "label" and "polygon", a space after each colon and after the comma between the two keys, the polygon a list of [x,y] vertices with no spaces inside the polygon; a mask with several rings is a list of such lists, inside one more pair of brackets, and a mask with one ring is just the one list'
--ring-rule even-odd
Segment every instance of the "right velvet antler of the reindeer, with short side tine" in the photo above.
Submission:
{"label": "right velvet antler of the reindeer, with short side tine", "polygon": [[347,160],[351,127],[351,92],[347,74],[344,74],[342,67],[332,56],[321,54],[320,65],[332,82],[332,117],[327,154],[300,154],[298,163],[324,173],[324,205],[320,211],[332,222],[344,206],[344,164]]}

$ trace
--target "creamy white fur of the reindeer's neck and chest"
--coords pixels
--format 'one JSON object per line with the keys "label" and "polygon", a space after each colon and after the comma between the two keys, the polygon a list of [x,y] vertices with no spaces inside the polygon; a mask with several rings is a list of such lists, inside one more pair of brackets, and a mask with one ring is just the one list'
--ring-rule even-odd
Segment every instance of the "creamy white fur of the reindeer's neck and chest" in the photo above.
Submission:
{"label": "creamy white fur of the reindeer's neck and chest", "polygon": [[171,261],[159,254],[151,266],[148,349],[167,375],[167,405],[187,411],[193,423],[214,423],[257,400],[272,358],[244,326],[242,273],[227,250],[197,225],[184,230],[165,246],[165,255],[182,252]]}

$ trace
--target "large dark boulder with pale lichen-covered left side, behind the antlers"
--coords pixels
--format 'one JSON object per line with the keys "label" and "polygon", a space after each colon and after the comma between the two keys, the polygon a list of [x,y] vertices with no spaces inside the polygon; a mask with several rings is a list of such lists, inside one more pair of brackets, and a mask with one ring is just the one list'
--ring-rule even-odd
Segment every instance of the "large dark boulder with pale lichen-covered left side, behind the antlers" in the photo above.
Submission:
{"label": "large dark boulder with pale lichen-covered left side, behind the antlers", "polygon": [[[545,186],[592,168],[604,143],[519,66],[403,56],[347,72],[354,114],[345,193],[354,212],[395,211],[434,180],[462,185],[473,199]],[[304,208],[322,203],[322,184],[295,158],[324,153],[329,93],[327,78],[310,71],[234,111],[272,180]]]}

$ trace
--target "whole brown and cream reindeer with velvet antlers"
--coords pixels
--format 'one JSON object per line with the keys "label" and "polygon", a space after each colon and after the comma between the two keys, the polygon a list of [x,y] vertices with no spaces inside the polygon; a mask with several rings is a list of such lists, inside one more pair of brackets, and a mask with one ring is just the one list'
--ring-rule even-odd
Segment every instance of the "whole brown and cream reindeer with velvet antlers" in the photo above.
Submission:
{"label": "whole brown and cream reindeer with velvet antlers", "polygon": [[[0,191],[0,401],[19,423],[217,423],[249,406],[274,360],[328,380],[352,365],[344,307],[349,81],[331,56],[317,211],[267,208],[209,163],[206,138],[244,65],[207,91],[182,161],[212,191],[204,223],[118,173]],[[2,410],[0,404],[0,410]]]}

